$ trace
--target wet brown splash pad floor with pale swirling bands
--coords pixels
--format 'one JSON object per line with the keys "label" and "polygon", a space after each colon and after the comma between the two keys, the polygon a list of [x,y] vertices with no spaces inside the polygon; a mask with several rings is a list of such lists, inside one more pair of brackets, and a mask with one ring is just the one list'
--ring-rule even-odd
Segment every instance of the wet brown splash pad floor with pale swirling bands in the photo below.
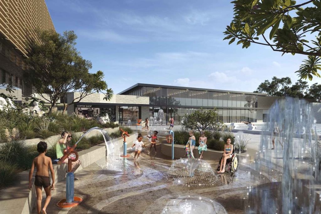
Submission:
{"label": "wet brown splash pad floor with pale swirling bands", "polygon": [[182,174],[169,176],[173,175],[173,162],[180,160],[161,154],[160,144],[157,153],[154,148],[149,152],[149,142],[144,141],[147,149],[136,161],[134,152],[128,151],[129,158],[102,158],[76,173],[75,196],[83,202],[74,208],[56,207],[57,201],[65,198],[65,181],[56,184],[48,213],[245,213],[246,207],[252,206],[248,197],[253,186],[279,179],[277,171],[267,177],[264,171],[253,170],[251,163],[240,164],[230,176],[215,173],[218,160],[195,160],[198,174],[187,172],[187,180],[180,180],[201,185],[181,185],[177,178]]}

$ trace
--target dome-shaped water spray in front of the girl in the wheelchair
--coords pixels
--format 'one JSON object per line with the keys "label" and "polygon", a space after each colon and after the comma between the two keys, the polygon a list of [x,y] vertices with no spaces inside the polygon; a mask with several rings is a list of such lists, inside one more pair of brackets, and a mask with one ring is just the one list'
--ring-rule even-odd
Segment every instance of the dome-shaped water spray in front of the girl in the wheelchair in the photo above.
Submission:
{"label": "dome-shaped water spray in front of the girl in the wheelchair", "polygon": [[174,184],[187,186],[210,185],[219,181],[209,163],[202,159],[181,158],[174,161],[168,170],[167,179]]}

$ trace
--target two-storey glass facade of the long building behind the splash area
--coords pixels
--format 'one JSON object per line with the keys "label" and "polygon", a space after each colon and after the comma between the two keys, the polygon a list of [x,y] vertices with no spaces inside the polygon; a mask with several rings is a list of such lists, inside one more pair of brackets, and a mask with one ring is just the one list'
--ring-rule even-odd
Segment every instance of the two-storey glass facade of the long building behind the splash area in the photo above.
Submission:
{"label": "two-storey glass facade of the long building behind the splash area", "polygon": [[159,110],[162,109],[165,121],[168,122],[169,118],[173,116],[176,124],[184,115],[192,114],[199,108],[206,110],[216,107],[218,117],[224,123],[256,122],[257,118],[256,94],[146,86],[136,87],[123,94],[148,96],[150,116],[157,116]]}

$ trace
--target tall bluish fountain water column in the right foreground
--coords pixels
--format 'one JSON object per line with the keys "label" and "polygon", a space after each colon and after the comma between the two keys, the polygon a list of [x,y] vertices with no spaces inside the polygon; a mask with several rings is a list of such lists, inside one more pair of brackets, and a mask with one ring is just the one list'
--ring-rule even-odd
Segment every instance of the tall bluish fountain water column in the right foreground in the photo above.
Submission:
{"label": "tall bluish fountain water column in the right foreground", "polygon": [[270,108],[256,170],[270,176],[277,169],[282,181],[252,191],[247,213],[320,213],[316,195],[320,182],[315,179],[320,176],[320,157],[311,150],[316,144],[312,124],[313,112],[305,100],[285,98]]}

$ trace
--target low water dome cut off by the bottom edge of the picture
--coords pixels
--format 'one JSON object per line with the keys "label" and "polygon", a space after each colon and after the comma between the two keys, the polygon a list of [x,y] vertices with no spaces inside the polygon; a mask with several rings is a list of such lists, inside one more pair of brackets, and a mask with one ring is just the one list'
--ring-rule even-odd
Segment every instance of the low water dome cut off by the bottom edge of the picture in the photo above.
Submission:
{"label": "low water dome cut off by the bottom edge of the picture", "polygon": [[192,214],[192,213],[202,213],[202,214],[213,214],[227,213],[225,208],[210,198],[188,195],[181,196],[170,200],[166,207],[162,210],[162,214]]}

